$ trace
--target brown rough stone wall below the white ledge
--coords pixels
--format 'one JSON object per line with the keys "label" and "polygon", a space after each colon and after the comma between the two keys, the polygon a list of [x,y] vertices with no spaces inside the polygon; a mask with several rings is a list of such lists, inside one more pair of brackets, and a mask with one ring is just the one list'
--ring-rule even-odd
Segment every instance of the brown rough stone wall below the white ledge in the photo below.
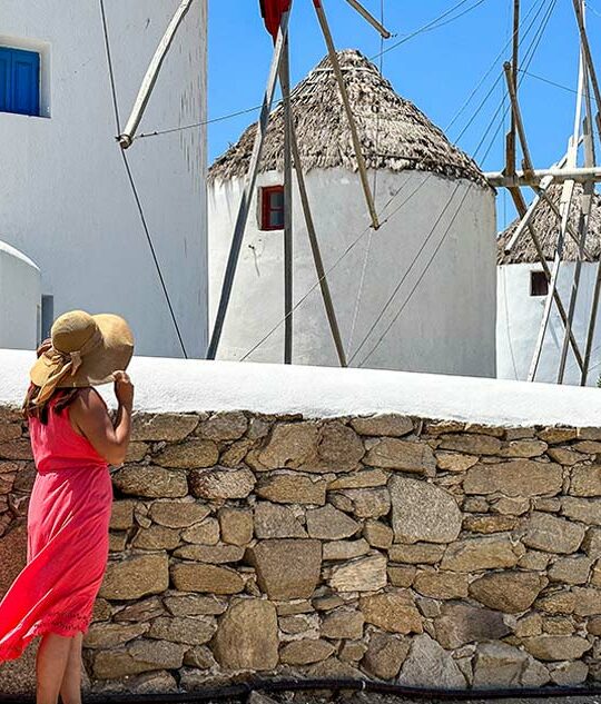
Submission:
{"label": "brown rough stone wall below the white ledge", "polygon": [[[597,428],[138,415],[112,475],[91,686],[599,682],[599,455]],[[0,594],[33,478],[26,430],[0,410]]]}

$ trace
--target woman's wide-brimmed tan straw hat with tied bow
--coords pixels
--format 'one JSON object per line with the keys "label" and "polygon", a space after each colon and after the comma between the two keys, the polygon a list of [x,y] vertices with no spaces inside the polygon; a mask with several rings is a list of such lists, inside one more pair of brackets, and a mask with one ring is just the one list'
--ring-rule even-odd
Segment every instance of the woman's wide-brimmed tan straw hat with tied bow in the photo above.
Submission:
{"label": "woman's wide-brimmed tan straw hat with tied bow", "polygon": [[52,345],[31,367],[30,378],[40,387],[36,404],[43,404],[57,388],[99,386],[126,369],[134,354],[134,335],[120,316],[91,316],[71,310],[55,320]]}

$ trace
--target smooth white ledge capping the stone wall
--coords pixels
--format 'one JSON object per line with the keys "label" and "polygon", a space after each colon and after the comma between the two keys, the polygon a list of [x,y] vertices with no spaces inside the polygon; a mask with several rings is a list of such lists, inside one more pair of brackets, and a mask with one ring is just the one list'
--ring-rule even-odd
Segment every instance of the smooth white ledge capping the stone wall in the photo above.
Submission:
{"label": "smooth white ledge capping the stone wall", "polygon": [[[20,405],[35,354],[0,350],[0,405]],[[136,357],[136,409],[333,417],[397,413],[496,426],[601,425],[601,389],[371,369]],[[110,387],[104,387],[110,398]]]}

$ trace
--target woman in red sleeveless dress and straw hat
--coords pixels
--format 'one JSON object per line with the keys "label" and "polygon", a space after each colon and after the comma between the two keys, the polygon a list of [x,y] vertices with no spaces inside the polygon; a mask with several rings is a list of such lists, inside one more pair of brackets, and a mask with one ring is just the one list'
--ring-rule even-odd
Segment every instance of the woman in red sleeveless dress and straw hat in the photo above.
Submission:
{"label": "woman in red sleeveless dress and straw hat", "polygon": [[[37,704],[81,702],[81,642],[107,566],[112,485],[125,460],[134,387],[125,373],[134,337],[119,316],[58,318],[38,350],[23,410],[37,476],[28,512],[27,566],[0,603],[0,662],[39,645]],[[112,422],[93,386],[115,381]]]}

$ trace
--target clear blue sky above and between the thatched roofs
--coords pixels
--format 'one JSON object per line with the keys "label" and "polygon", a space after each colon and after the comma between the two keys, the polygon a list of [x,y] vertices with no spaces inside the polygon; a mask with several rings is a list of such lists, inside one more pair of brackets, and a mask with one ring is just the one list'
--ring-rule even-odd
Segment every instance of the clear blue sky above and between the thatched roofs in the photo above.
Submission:
{"label": "clear blue sky above and between the thatched roofs", "polygon": [[[365,7],[378,18],[381,2],[364,0]],[[384,0],[385,24],[396,34],[384,43],[384,48],[440,17],[457,2]],[[380,36],[345,0],[324,0],[324,4],[338,49],[356,48],[368,57],[378,53]],[[258,0],[209,0],[210,119],[260,103],[273,43],[265,31],[258,6]],[[572,0],[522,0],[524,33],[533,22],[530,33],[523,37],[522,57],[524,60],[551,7],[553,12],[528,71],[573,90],[578,76],[578,29]],[[442,129],[447,128],[496,59],[493,71],[447,130],[451,140],[459,138],[459,146],[471,156],[474,156],[503,100],[504,80],[499,80],[494,88],[493,85],[502,73],[503,61],[511,54],[508,42],[511,42],[512,8],[513,0],[467,0],[442,20],[446,24],[422,32],[384,56],[383,72],[396,91],[412,100]],[[465,10],[470,11],[456,17]],[[588,26],[601,78],[601,0],[588,0]],[[326,53],[312,0],[294,2],[290,52],[294,83],[302,80]],[[461,135],[491,88],[493,90],[487,101]],[[573,129],[575,96],[570,90],[528,75],[523,76],[520,93],[531,153],[535,166],[544,168],[565,151],[568,137]],[[209,126],[209,161],[227,149],[229,143],[237,141],[257,112]],[[494,120],[489,137],[476,155],[484,170],[496,170],[503,166],[505,130],[500,130],[493,139],[501,115]],[[489,153],[484,158],[486,151]],[[502,226],[512,214],[509,199],[501,196],[499,225]]]}

